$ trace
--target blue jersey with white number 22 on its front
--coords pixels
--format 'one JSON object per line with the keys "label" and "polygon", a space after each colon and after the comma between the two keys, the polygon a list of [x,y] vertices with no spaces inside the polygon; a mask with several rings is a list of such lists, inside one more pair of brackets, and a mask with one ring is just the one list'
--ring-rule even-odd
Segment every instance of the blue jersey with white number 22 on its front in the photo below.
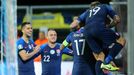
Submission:
{"label": "blue jersey with white number 22 on its front", "polygon": [[62,54],[72,54],[72,50],[65,48],[60,50],[60,44],[56,43],[54,48],[48,44],[41,46],[42,75],[61,75]]}

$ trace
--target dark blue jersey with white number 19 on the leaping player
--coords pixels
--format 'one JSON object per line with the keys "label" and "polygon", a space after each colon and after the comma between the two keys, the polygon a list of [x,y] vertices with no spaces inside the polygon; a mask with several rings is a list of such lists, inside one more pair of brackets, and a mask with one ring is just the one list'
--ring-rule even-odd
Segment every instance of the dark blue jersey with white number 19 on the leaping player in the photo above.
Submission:
{"label": "dark blue jersey with white number 19 on the leaping player", "polygon": [[96,7],[89,8],[84,13],[82,13],[79,16],[78,21],[85,23],[85,29],[89,29],[91,27],[105,28],[105,21],[107,15],[113,18],[116,13],[111,7],[111,5],[99,4]]}

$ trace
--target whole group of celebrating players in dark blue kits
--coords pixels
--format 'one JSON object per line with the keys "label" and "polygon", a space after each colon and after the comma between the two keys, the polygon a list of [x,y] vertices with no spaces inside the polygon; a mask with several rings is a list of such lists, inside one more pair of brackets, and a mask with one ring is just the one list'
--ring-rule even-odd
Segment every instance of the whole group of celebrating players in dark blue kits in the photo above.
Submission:
{"label": "whole group of celebrating players in dark blue kits", "polygon": [[[112,22],[106,22],[109,19]],[[42,75],[61,75],[62,54],[73,55],[72,75],[107,75],[103,70],[119,70],[113,62],[125,45],[125,39],[110,29],[120,22],[119,16],[108,4],[98,0],[71,23],[73,30],[62,44],[56,43],[54,29],[47,32],[48,43],[36,46],[32,36],[32,26],[24,22],[23,36],[17,41],[19,75],[35,75],[34,58],[41,54]],[[71,44],[72,49],[67,48]],[[107,52],[107,53],[105,53]]]}

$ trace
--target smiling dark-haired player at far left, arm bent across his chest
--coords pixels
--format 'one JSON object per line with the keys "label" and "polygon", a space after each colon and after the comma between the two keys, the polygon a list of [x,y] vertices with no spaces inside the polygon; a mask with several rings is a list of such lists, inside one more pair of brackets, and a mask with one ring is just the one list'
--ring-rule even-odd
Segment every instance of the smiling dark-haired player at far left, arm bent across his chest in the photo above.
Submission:
{"label": "smiling dark-haired player at far left, arm bent across his chest", "polygon": [[23,35],[17,40],[19,75],[35,75],[33,59],[40,47],[31,39],[33,30],[29,22],[24,22],[21,30]]}

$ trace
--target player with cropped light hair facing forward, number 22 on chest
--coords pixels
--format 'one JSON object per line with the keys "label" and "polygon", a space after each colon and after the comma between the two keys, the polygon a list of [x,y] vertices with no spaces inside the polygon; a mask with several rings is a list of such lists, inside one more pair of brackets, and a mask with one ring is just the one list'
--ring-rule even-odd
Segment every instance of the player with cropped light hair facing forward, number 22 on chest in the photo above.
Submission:
{"label": "player with cropped light hair facing forward, number 22 on chest", "polygon": [[69,48],[60,50],[60,44],[56,43],[57,33],[49,29],[47,33],[48,43],[41,45],[42,75],[61,75],[62,54],[72,55]]}

